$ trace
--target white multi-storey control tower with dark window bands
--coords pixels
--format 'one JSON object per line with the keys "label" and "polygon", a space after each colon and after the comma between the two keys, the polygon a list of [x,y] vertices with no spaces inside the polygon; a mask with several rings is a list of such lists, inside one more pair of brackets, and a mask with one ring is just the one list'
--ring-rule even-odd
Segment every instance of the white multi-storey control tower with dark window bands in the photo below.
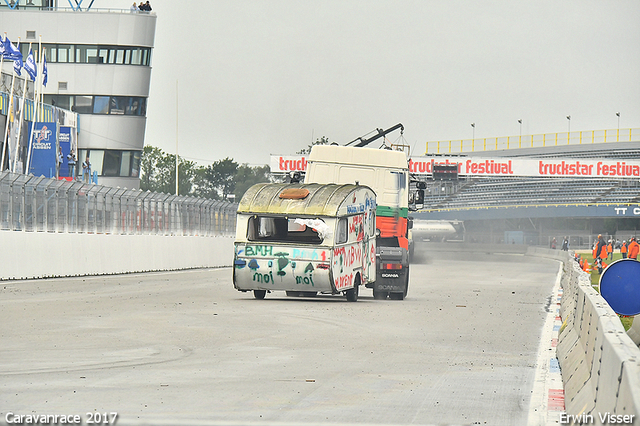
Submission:
{"label": "white multi-storey control tower with dark window bands", "polygon": [[44,102],[78,113],[78,162],[89,156],[102,185],[138,189],[156,15],[98,1],[0,0],[0,28],[24,58],[42,41]]}

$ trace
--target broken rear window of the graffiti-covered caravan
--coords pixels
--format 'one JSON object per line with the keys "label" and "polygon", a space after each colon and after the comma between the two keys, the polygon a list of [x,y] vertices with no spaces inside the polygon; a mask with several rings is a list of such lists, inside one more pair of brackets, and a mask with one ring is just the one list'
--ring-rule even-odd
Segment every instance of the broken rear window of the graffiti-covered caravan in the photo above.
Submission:
{"label": "broken rear window of the graffiti-covered caravan", "polygon": [[251,216],[247,228],[249,241],[277,241],[319,244],[325,237],[321,219]]}

